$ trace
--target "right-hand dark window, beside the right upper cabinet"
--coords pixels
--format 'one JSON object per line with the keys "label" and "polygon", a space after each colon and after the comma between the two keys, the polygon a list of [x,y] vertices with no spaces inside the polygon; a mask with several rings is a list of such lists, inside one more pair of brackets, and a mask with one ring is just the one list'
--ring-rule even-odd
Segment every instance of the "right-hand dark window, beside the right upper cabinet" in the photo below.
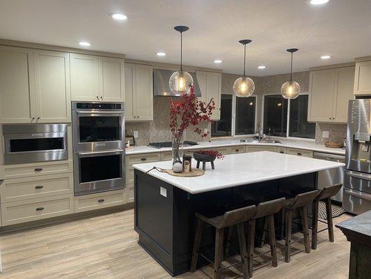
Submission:
{"label": "right-hand dark window, beside the right upper cabinet", "polygon": [[[315,123],[308,123],[308,94],[294,100],[281,95],[264,97],[263,133],[278,137],[315,138]],[[287,127],[288,126],[288,127]]]}

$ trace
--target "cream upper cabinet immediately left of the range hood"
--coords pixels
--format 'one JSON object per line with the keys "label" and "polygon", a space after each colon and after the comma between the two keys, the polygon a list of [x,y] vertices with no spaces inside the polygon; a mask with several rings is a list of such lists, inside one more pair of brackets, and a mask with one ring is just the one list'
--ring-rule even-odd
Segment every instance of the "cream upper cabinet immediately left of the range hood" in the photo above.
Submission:
{"label": "cream upper cabinet immediately left of the range hood", "polygon": [[153,120],[152,66],[125,64],[125,120]]}

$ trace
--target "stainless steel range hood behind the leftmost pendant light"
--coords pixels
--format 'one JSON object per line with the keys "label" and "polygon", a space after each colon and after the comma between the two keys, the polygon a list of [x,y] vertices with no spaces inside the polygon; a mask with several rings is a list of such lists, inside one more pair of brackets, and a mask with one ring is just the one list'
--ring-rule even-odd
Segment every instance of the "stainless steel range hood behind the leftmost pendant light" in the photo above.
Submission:
{"label": "stainless steel range hood behind the leftmost pendant light", "polygon": [[[175,95],[168,86],[168,80],[173,75],[173,70],[153,69],[153,95],[154,96],[180,96]],[[189,73],[194,79],[194,93],[196,97],[201,96],[196,73]]]}

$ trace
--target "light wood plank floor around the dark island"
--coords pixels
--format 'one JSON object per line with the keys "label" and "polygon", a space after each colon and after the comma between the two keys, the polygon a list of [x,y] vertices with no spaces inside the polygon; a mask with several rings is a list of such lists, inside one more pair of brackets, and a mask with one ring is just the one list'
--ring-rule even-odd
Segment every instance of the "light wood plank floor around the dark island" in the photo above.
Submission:
{"label": "light wood plank floor around the dark island", "polygon": [[[3,274],[0,278],[171,278],[136,243],[133,213],[133,210],[127,210],[1,235]],[[349,217],[343,215],[334,219],[334,223]],[[326,234],[320,234],[319,240],[323,242],[319,243],[317,250],[310,254],[299,252],[292,256],[290,263],[284,262],[283,245],[280,244],[280,262],[276,268],[266,265],[258,269],[261,266],[258,262],[269,263],[270,255],[257,257],[255,268],[258,270],[253,278],[348,278],[349,243],[338,229],[335,230],[335,243],[325,240]],[[300,242],[294,246],[302,250]],[[236,259],[238,257],[232,257],[228,262]],[[233,267],[226,271],[226,278],[235,277],[239,271],[239,266]],[[177,278],[209,278],[206,274],[212,275],[210,266]]]}

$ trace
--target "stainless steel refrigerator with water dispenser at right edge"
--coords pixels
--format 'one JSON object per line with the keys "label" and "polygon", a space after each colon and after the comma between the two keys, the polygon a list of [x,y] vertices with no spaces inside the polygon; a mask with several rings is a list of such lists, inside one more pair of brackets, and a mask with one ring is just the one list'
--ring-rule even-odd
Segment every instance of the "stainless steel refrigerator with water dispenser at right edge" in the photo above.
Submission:
{"label": "stainless steel refrigerator with water dispenser at right edge", "polygon": [[361,214],[371,210],[371,99],[349,100],[342,207]]}

